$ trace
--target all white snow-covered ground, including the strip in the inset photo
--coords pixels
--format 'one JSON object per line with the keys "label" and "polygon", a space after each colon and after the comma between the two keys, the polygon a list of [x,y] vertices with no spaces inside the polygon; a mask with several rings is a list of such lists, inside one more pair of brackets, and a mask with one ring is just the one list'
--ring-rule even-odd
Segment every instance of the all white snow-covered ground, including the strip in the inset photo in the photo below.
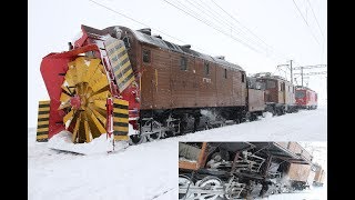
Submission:
{"label": "all white snow-covered ground, including the strip in the inset photo", "polygon": [[[326,107],[132,146],[112,153],[74,156],[50,150],[28,132],[29,199],[178,199],[178,141],[326,141]],[[326,199],[317,190],[271,200]]]}

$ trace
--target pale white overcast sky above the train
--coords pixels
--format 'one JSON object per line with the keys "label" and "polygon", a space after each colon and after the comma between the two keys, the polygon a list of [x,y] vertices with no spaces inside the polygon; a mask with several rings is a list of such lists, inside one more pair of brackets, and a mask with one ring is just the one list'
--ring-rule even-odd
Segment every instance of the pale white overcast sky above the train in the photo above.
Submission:
{"label": "pale white overcast sky above the train", "polygon": [[[183,8],[189,13],[197,13],[202,21],[224,33],[187,16],[166,1]],[[152,28],[153,34],[161,34],[165,40],[178,44],[191,44],[192,49],[211,56],[225,56],[227,61],[242,66],[247,73],[275,72],[277,64],[288,63],[290,59],[294,60],[294,67],[327,63],[327,1],[325,0],[166,1],[131,0],[129,3],[114,0],[30,1],[28,126],[37,124],[38,101],[49,99],[40,74],[41,59],[50,52],[67,50],[68,42],[78,34],[81,24],[98,29],[110,26],[146,28],[119,13],[148,24]],[[174,38],[170,38],[166,33]],[[324,71],[324,69],[312,71]],[[308,87],[320,93],[321,103],[326,102],[325,77],[313,76],[308,80]],[[297,82],[301,83],[300,78]]]}

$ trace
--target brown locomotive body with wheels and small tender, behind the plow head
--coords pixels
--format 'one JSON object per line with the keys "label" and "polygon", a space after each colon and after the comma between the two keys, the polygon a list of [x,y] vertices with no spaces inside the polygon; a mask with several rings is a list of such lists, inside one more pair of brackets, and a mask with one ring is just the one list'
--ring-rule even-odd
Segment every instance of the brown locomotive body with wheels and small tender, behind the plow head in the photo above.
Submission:
{"label": "brown locomotive body with wheels and small tender, behind the plow head", "polygon": [[245,71],[224,57],[171,43],[150,29],[119,29],[140,74],[141,131],[131,136],[133,142],[253,120],[264,111],[264,91],[247,86]]}

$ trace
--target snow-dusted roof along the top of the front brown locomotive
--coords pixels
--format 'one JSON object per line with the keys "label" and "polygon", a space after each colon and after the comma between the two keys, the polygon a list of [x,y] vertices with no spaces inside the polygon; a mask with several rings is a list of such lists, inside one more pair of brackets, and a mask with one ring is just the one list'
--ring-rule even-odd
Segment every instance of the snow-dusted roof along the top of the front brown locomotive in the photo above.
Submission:
{"label": "snow-dusted roof along the top of the front brown locomotive", "polygon": [[222,60],[222,59],[219,59],[219,58],[213,58],[213,57],[211,57],[209,54],[204,54],[204,53],[197,52],[197,51],[192,50],[192,49],[186,48],[186,47],[178,46],[175,43],[162,40],[162,39],[156,38],[154,36],[149,36],[149,34],[143,33],[141,31],[136,31],[136,30],[132,30],[132,29],[130,29],[130,30],[134,33],[136,39],[139,41],[141,41],[141,42],[145,42],[145,43],[150,43],[150,44],[153,44],[153,46],[158,46],[158,47],[163,48],[163,49],[170,49],[172,51],[176,51],[176,52],[181,52],[181,53],[187,53],[187,54],[191,54],[193,57],[199,57],[201,59],[209,60],[211,62],[216,62],[216,63],[219,63],[221,66],[224,66],[224,67],[227,67],[227,68],[232,68],[232,69],[244,71],[244,69],[242,67],[240,67],[237,64],[234,64],[234,63],[231,63],[231,62],[227,62],[225,60]]}

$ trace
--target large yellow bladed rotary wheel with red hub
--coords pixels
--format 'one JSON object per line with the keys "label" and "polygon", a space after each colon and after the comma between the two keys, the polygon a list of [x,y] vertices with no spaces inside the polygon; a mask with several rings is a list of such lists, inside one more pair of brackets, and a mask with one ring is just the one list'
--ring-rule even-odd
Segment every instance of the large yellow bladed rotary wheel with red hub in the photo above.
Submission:
{"label": "large yellow bladed rotary wheel with red hub", "polygon": [[58,110],[65,113],[63,123],[72,141],[90,142],[106,132],[109,80],[100,59],[79,57],[68,66]]}

